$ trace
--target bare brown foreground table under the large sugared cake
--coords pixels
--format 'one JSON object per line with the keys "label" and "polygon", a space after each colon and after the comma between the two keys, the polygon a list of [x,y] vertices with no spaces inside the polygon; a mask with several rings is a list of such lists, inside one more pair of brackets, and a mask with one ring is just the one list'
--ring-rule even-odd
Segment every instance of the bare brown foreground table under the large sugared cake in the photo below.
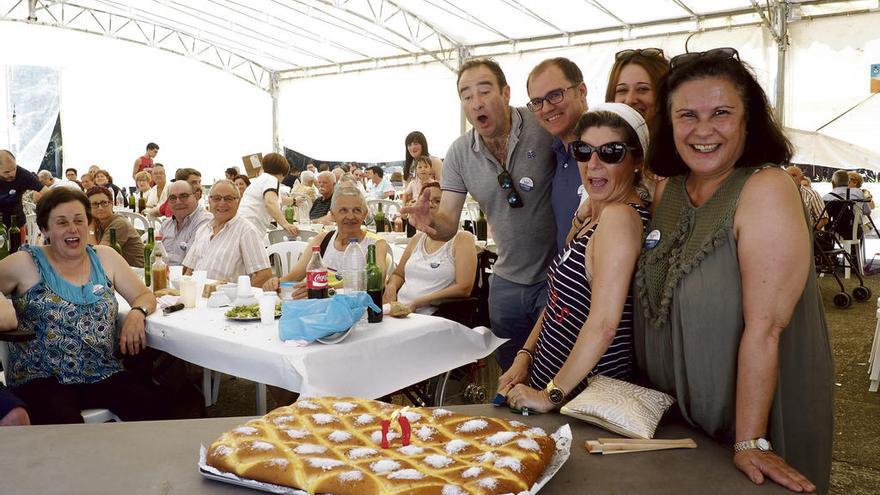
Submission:
{"label": "bare brown foreground table under the large sugared cake", "polygon": [[[571,457],[541,495],[599,493],[787,493],[772,481],[753,485],[723,446],[689,426],[663,424],[657,438],[691,437],[698,448],[588,455],[584,441],[614,436],[559,414],[523,418],[489,405],[453,406],[469,415],[516,418],[547,431],[568,423]],[[13,494],[255,494],[203,479],[199,445],[249,418],[0,428],[0,492]]]}

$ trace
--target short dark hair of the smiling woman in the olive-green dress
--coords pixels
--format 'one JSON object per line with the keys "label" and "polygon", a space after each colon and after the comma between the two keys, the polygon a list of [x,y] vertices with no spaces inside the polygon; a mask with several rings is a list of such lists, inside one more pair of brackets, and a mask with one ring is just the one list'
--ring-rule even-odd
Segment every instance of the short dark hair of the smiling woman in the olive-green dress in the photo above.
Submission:
{"label": "short dark hair of the smiling woman in the olive-green dress", "polygon": [[751,68],[735,57],[703,56],[670,70],[660,84],[656,129],[651,132],[647,166],[661,177],[684,175],[688,166],[675,149],[671,118],[671,95],[684,83],[706,78],[729,81],[739,93],[745,109],[746,145],[735,167],[783,164],[791,159],[792,145],[785,137]]}

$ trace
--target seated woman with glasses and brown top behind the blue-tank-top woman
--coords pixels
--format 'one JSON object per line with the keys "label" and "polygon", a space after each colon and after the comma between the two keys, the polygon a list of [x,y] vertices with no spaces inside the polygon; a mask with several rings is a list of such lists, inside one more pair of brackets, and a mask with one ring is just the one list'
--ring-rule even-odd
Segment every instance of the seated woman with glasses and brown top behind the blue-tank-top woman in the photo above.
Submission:
{"label": "seated woman with glasses and brown top behind the blue-tank-top woman", "polygon": [[115,235],[125,261],[131,266],[143,268],[144,243],[141,235],[127,218],[113,213],[113,193],[110,189],[95,186],[86,191],[86,195],[91,205],[92,221],[89,244],[112,247],[111,237]]}

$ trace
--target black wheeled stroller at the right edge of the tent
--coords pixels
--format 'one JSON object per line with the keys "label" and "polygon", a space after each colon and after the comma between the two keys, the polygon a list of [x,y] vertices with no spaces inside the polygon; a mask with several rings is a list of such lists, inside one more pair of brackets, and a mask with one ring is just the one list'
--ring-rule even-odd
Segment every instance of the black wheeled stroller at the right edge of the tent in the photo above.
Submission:
{"label": "black wheeled stroller at the right edge of the tent", "polygon": [[[865,287],[865,280],[862,278],[862,267],[859,264],[858,256],[843,244],[844,239],[861,239],[864,235],[861,225],[857,222],[858,215],[855,213],[856,208],[861,208],[860,203],[862,202],[862,200],[853,199],[827,201],[819,218],[823,218],[827,213],[830,221],[824,229],[819,229],[818,225],[813,226],[813,253],[816,272],[830,274],[837,281],[840,292],[834,295],[833,300],[834,305],[841,309],[850,307],[853,298],[859,302],[865,302],[871,298],[871,289]],[[870,217],[868,218],[870,220]],[[873,225],[873,220],[870,221]],[[876,230],[876,227],[874,229]],[[861,249],[861,247],[856,247],[856,249]],[[846,292],[843,280],[837,273],[837,269],[844,264],[853,267],[852,273],[859,279],[858,287],[852,290],[852,297]]]}

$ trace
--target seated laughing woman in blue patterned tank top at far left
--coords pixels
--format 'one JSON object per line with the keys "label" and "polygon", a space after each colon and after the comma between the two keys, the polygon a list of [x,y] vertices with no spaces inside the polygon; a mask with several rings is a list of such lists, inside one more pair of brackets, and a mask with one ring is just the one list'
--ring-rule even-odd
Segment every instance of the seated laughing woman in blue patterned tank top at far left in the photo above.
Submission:
{"label": "seated laughing woman in blue patterned tank top at far left", "polygon": [[[145,348],[153,294],[116,251],[87,244],[85,194],[53,189],[36,213],[48,245],[24,246],[0,261],[0,292],[11,296],[19,329],[36,334],[10,344],[5,370],[31,422],[82,423],[84,408],[108,408],[125,421],[167,417],[159,389],[126,371],[119,356]],[[132,307],[121,331],[116,291]]]}

